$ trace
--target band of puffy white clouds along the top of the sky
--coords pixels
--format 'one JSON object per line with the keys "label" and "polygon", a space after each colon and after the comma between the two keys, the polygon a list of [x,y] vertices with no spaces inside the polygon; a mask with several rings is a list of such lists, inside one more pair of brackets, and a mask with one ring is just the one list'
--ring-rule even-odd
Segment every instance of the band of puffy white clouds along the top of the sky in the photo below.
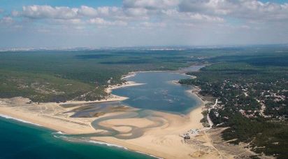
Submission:
{"label": "band of puffy white clouds along the top of the sky", "polygon": [[[251,22],[288,20],[288,4],[263,3],[257,0],[124,0],[122,7],[101,6],[23,6],[11,16],[30,19],[78,20],[106,19],[107,22],[226,22],[226,18]],[[152,21],[152,20],[157,21]],[[77,24],[78,22],[74,22]]]}

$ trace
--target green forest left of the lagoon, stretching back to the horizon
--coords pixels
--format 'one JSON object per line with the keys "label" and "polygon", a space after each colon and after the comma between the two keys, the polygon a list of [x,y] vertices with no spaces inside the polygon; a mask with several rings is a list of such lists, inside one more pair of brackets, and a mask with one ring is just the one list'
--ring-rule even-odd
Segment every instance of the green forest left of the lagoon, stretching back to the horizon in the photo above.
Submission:
{"label": "green forest left of the lagoon, stretching back to the horizon", "polygon": [[[108,84],[129,71],[173,70],[189,66],[187,51],[81,50],[0,53],[0,97],[33,102],[95,100]],[[109,82],[108,82],[109,81]]]}

